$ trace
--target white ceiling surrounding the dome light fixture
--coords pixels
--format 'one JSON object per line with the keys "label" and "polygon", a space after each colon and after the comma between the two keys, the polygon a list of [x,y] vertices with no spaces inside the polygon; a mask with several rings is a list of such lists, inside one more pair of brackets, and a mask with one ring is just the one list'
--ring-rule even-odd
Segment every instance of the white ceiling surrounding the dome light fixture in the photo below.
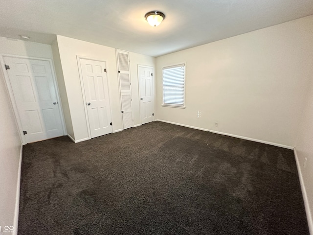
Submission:
{"label": "white ceiling surrounding the dome light fixture", "polygon": [[[154,28],[145,13],[166,18]],[[313,0],[1,0],[0,36],[63,35],[160,56],[313,15]]]}

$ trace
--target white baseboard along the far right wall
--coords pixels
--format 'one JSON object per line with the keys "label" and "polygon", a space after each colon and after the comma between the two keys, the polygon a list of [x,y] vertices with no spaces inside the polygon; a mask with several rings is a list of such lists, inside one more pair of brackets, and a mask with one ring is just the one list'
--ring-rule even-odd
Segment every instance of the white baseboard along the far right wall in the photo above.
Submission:
{"label": "white baseboard along the far right wall", "polygon": [[298,175],[299,175],[299,180],[300,180],[300,185],[301,185],[301,191],[302,191],[302,196],[303,196],[303,201],[304,201],[304,207],[305,207],[305,212],[307,214],[307,219],[308,219],[308,226],[309,226],[309,231],[310,234],[313,235],[313,217],[312,217],[312,212],[310,211],[310,203],[308,200],[308,195],[307,195],[307,190],[305,188],[303,176],[302,176],[302,171],[301,171],[301,165],[299,162],[298,154],[296,149],[293,149],[294,157],[295,157],[295,162],[297,164],[297,169],[298,169]]}

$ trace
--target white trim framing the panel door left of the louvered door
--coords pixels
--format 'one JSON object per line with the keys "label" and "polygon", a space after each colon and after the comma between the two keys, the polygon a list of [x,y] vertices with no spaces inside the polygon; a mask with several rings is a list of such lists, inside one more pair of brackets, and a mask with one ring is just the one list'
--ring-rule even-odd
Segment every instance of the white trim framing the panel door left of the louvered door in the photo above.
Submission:
{"label": "white trim framing the panel door left of the louvered door", "polygon": [[[81,67],[81,63],[80,60],[81,59],[85,59],[85,60],[93,60],[93,61],[99,61],[99,62],[104,62],[106,63],[106,69],[108,69],[108,62],[106,60],[102,60],[102,59],[95,59],[95,58],[91,58],[91,57],[87,57],[87,56],[80,56],[80,55],[76,55],[76,59],[77,59],[77,66],[78,66],[78,72],[79,72],[79,80],[80,80],[80,87],[82,89],[82,96],[83,96],[83,101],[84,101],[84,110],[85,110],[85,117],[86,117],[86,121],[87,121],[87,130],[88,130],[88,140],[91,139],[91,132],[90,132],[90,126],[89,126],[89,117],[88,117],[88,110],[87,110],[87,101],[86,101],[86,97],[85,97],[85,88],[84,88],[84,81],[83,81],[83,73],[82,73],[82,67]],[[110,114],[111,114],[111,118],[112,116],[112,101],[111,101],[111,95],[110,95],[110,78],[109,78],[109,73],[107,72],[107,80],[108,80],[108,90],[109,90],[109,103],[110,103]],[[112,131],[113,131],[113,120],[112,120]],[[113,131],[114,132],[114,131]]]}

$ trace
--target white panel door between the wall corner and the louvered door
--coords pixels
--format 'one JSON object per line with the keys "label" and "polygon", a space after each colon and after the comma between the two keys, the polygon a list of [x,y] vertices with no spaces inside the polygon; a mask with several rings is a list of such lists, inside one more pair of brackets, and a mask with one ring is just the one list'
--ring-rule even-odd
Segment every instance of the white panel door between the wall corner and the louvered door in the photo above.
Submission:
{"label": "white panel door between the wall corner and the louvered door", "polygon": [[91,138],[112,133],[106,63],[80,59]]}

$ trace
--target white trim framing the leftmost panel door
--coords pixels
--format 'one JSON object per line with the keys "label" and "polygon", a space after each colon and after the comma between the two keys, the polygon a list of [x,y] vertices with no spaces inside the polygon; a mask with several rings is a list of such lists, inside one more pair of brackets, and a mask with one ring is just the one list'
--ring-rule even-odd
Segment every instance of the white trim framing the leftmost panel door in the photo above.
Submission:
{"label": "white trim framing the leftmost panel door", "polygon": [[20,55],[11,55],[11,54],[0,54],[0,64],[1,64],[1,69],[2,69],[2,74],[5,80],[5,84],[10,96],[10,101],[11,101],[11,105],[13,107],[13,113],[15,116],[15,120],[17,122],[18,128],[19,128],[19,134],[21,137],[21,141],[22,144],[25,145],[26,144],[26,140],[24,135],[22,135],[23,132],[23,128],[22,128],[22,121],[18,112],[18,107],[16,104],[16,100],[13,94],[13,90],[12,90],[12,86],[11,86],[11,82],[10,82],[10,78],[9,78],[9,74],[5,69],[5,63],[4,63],[4,58],[3,57],[12,57],[12,58],[20,58],[20,59],[30,59],[30,60],[42,60],[42,61],[47,61],[49,62],[49,65],[51,67],[51,73],[52,73],[52,80],[53,80],[53,85],[54,85],[54,89],[56,91],[56,97],[57,97],[57,102],[60,104],[58,105],[59,111],[60,111],[60,115],[61,115],[61,124],[62,124],[62,130],[63,130],[63,135],[67,135],[67,131],[65,128],[65,120],[64,120],[64,114],[63,114],[63,109],[62,109],[62,103],[61,103],[61,98],[60,98],[60,94],[59,94],[59,87],[58,87],[58,82],[56,79],[56,75],[55,75],[55,69],[54,69],[54,64],[52,62],[51,59],[48,58],[39,58],[39,57],[29,57],[29,56],[20,56]]}

